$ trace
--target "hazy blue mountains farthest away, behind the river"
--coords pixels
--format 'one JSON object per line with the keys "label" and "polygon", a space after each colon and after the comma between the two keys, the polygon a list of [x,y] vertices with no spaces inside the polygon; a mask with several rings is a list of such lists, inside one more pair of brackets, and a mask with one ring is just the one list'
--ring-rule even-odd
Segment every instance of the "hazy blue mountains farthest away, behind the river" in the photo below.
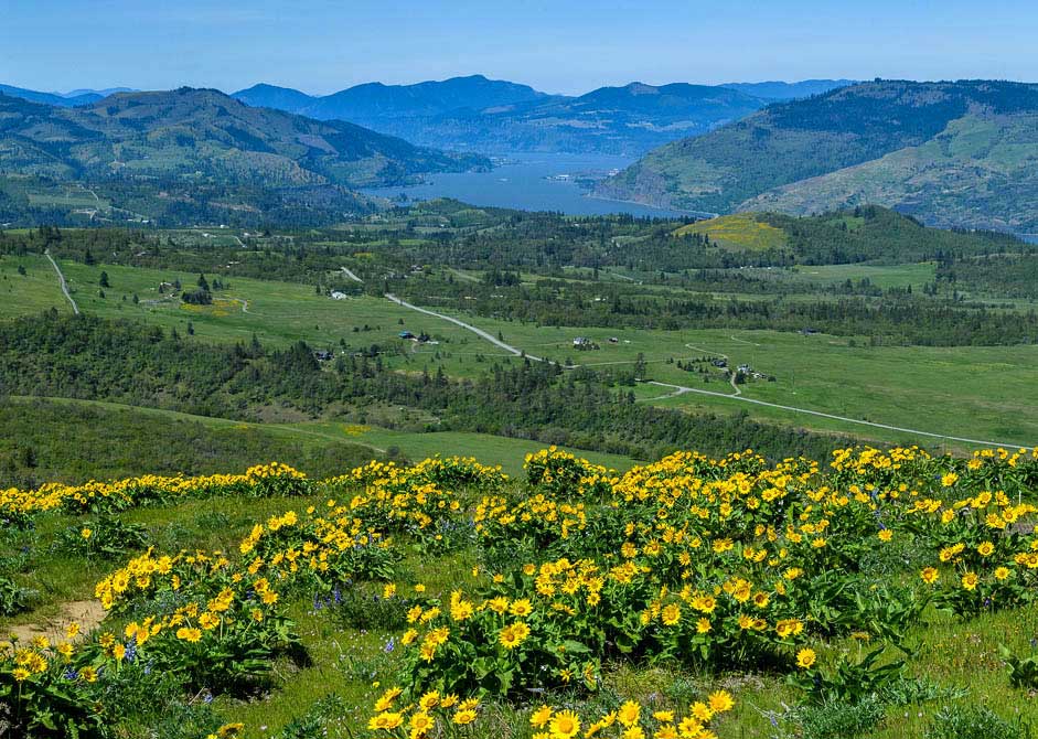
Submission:
{"label": "hazy blue mountains farthest away, behind the river", "polygon": [[687,84],[631,83],[578,97],[546,95],[481,75],[417,85],[372,83],[325,97],[256,85],[234,96],[442,149],[625,156],[703,133],[767,104],[738,89]]}

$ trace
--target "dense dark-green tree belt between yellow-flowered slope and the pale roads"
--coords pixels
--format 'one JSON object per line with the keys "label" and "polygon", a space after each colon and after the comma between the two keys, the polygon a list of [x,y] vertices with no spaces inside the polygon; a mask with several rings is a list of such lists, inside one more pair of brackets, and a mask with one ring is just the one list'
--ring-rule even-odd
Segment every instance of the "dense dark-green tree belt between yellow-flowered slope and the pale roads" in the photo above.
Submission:
{"label": "dense dark-green tree belt between yellow-flowered slope and the pale roads", "polygon": [[[132,372],[127,372],[132,367]],[[49,311],[0,325],[0,390],[105,399],[256,419],[270,406],[311,416],[385,403],[429,411],[431,429],[483,431],[648,459],[674,449],[753,448],[825,459],[846,438],[639,405],[630,378],[524,361],[475,381],[387,371],[366,356],[322,370],[310,346],[210,345],[158,326]]]}

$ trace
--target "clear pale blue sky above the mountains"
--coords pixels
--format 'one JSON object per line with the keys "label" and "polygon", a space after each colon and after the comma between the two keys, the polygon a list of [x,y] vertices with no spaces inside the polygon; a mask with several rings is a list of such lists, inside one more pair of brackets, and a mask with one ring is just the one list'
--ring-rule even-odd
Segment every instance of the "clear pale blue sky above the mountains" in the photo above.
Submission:
{"label": "clear pale blue sky above the mountains", "polygon": [[1036,0],[0,0],[0,82],[257,82],[330,93],[482,73],[552,93],[641,81],[1038,81]]}

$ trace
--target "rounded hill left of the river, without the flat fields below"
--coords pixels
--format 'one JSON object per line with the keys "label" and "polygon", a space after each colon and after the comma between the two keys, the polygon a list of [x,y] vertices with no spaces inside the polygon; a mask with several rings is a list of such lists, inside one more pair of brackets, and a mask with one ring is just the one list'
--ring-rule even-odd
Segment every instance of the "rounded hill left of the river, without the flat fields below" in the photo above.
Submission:
{"label": "rounded hill left of the river, without the flat fields below", "polygon": [[0,171],[55,179],[396,184],[481,162],[210,89],[119,93],[77,108],[0,97]]}

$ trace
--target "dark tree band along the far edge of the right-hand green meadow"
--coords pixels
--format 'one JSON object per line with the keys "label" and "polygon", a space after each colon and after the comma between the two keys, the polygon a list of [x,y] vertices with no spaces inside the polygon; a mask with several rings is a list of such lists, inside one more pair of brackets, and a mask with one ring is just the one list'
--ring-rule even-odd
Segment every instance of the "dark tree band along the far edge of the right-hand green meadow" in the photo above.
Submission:
{"label": "dark tree band along the far edge of the right-hand green meadow", "polygon": [[[858,287],[868,293],[868,286],[859,282]],[[410,279],[390,282],[390,288],[413,302],[538,325],[775,331],[812,328],[834,335],[868,336],[876,343],[923,346],[1038,342],[1038,313],[1034,310],[1006,311],[938,300],[900,288],[880,291],[879,297],[834,294],[815,300],[683,297],[639,286],[554,280],[490,288]]]}

